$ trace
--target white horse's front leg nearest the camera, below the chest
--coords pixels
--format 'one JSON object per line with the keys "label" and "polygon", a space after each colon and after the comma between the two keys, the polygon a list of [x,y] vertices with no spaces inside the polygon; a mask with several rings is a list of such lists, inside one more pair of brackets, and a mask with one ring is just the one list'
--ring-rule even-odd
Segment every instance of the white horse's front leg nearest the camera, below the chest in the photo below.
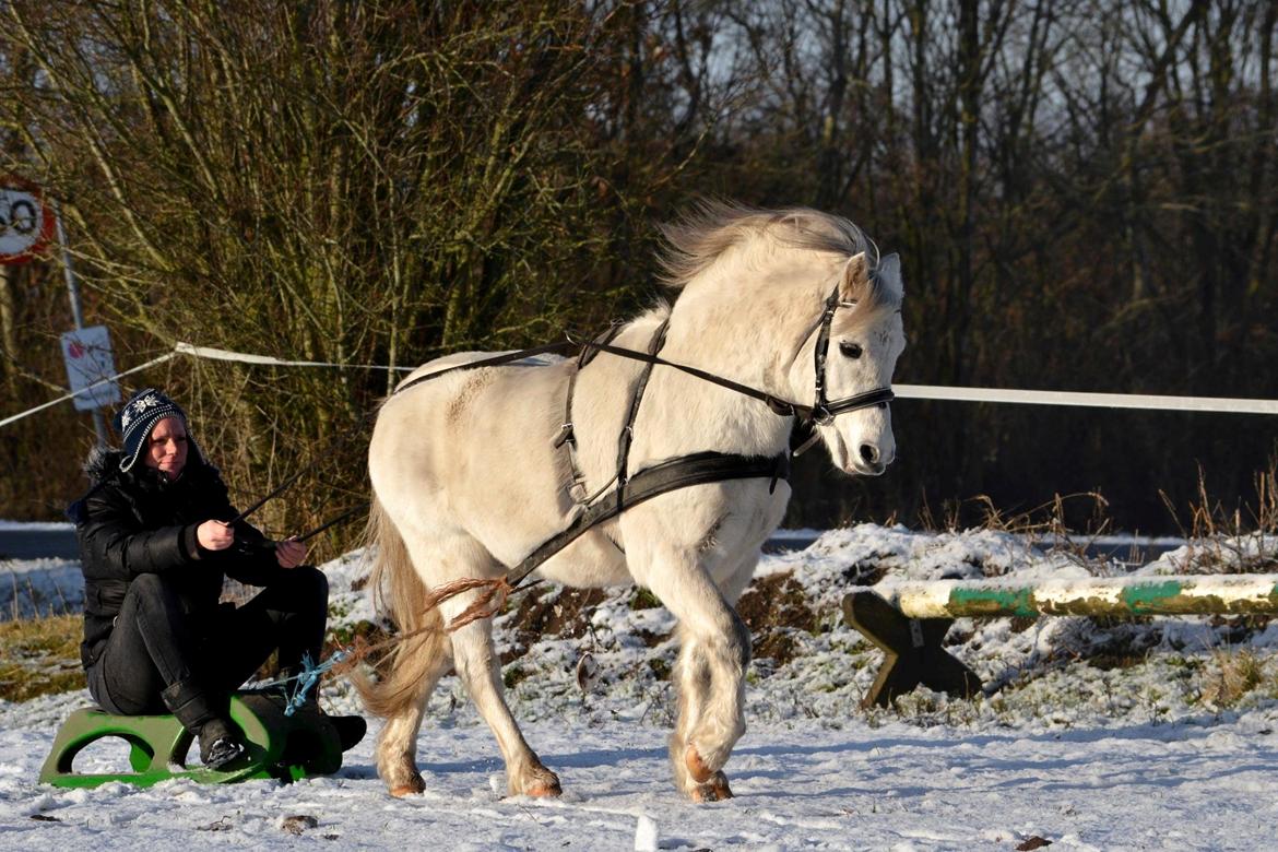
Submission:
{"label": "white horse's front leg nearest the camera, below the chest", "polygon": [[695,559],[656,556],[645,585],[679,618],[682,639],[679,722],[670,738],[675,784],[694,801],[728,798],[723,765],[745,733],[750,632]]}

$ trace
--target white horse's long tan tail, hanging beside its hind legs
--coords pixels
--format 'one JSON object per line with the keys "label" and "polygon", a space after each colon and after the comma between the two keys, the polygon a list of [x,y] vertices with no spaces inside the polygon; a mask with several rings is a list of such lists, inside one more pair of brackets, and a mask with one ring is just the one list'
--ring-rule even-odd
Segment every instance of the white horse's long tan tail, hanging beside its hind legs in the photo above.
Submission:
{"label": "white horse's long tan tail, hanging beside its hind legs", "polygon": [[374,605],[395,622],[401,639],[374,664],[376,682],[362,673],[353,673],[351,680],[369,713],[391,718],[415,706],[422,691],[435,683],[428,674],[447,653],[449,639],[438,607],[427,603],[426,585],[413,570],[404,536],[376,494],[367,540],[377,551],[369,576]]}

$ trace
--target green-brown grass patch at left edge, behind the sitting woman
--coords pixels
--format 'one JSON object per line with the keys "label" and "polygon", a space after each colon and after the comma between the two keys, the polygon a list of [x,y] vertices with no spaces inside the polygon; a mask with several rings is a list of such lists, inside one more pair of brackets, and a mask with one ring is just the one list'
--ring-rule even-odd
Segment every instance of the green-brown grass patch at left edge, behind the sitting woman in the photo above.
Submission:
{"label": "green-brown grass patch at left edge, behind the sitting woman", "polygon": [[81,616],[50,616],[0,622],[0,699],[27,701],[84,688],[79,643]]}

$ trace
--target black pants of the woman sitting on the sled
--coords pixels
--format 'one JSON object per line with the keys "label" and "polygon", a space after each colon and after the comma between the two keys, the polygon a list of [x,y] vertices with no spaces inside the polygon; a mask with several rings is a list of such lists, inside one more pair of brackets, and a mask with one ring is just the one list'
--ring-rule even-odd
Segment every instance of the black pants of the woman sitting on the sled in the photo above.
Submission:
{"label": "black pants of the woman sitting on the sled", "polygon": [[222,605],[196,625],[161,575],[144,574],[129,584],[115,628],[97,662],[88,688],[109,713],[167,713],[160,697],[166,687],[192,682],[229,694],[280,650],[280,669],[295,673],[303,654],[320,662],[328,616],[328,579],[311,566],[280,572],[243,607]]}

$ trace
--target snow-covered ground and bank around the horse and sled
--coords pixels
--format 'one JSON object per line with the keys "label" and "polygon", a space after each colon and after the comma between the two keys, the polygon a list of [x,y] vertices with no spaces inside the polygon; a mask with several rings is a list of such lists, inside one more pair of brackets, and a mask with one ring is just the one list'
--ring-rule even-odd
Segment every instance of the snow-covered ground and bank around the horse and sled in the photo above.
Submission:
{"label": "snow-covered ground and bank around the horse and sled", "polygon": [[[1222,558],[1233,570],[1273,571],[1275,551],[1264,538],[1190,545],[1141,572],[1212,570]],[[369,618],[366,594],[351,590],[359,554],[325,570],[335,623]],[[757,649],[750,729],[726,768],[736,798],[702,806],[676,796],[665,751],[672,622],[633,590],[583,611],[581,630],[539,640],[519,639],[514,613],[498,621],[502,650],[529,643],[505,668],[509,695],[529,742],[560,774],[558,800],[505,797],[492,737],[455,678],[435,694],[419,740],[427,793],[405,800],[389,797],[377,778],[372,736],[336,777],[291,786],[41,787],[54,731],[87,695],[0,703],[0,848],[1272,848],[1278,622],[961,620],[950,650],[987,683],[1005,685],[999,692],[951,700],[921,691],[900,710],[860,709],[881,655],[842,623],[837,607],[850,585],[1098,570],[999,533],[878,526],[832,530],[804,551],[766,557],[760,577],[801,600],[814,625],[771,628],[766,643],[757,634],[757,646],[787,650],[769,658]],[[50,599],[74,598],[65,565],[3,571]],[[560,594],[524,593],[546,604]],[[1116,648],[1135,660],[1095,664]],[[598,676],[583,688],[575,669],[587,653]],[[1218,681],[1238,655],[1255,682],[1227,694]],[[358,711],[340,681],[326,683],[322,701]],[[123,769],[118,745],[77,765]]]}

